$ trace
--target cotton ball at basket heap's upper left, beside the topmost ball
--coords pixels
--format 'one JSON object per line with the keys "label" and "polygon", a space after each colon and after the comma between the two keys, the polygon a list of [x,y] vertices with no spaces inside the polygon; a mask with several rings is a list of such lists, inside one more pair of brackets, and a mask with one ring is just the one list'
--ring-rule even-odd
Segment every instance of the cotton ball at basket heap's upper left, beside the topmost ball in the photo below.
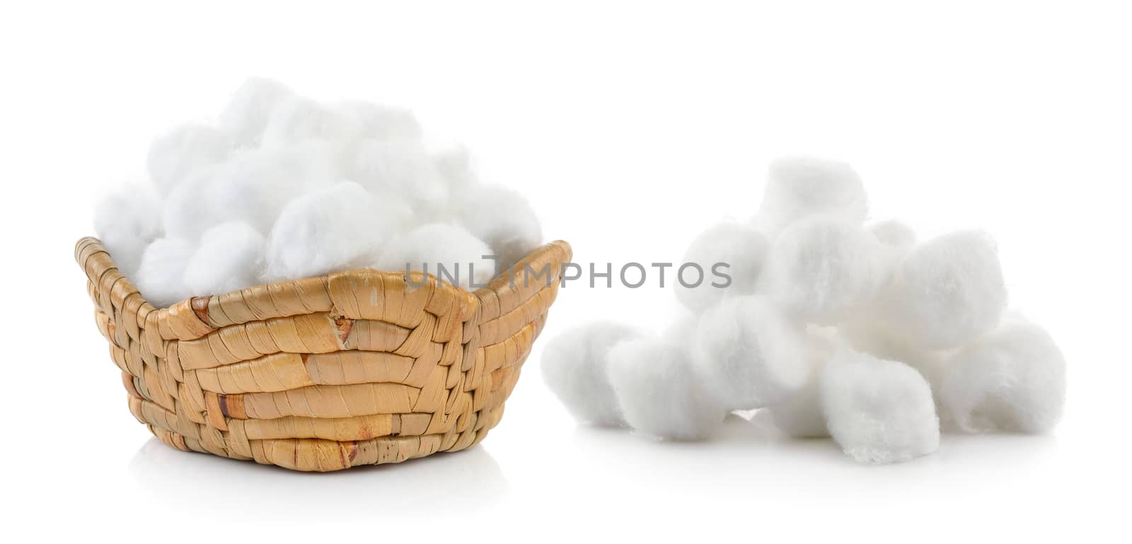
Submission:
{"label": "cotton ball at basket heap's upper left, beside the topmost ball", "polygon": [[187,124],[149,145],[146,167],[157,192],[168,196],[195,170],[222,163],[232,153],[231,137],[212,127]]}

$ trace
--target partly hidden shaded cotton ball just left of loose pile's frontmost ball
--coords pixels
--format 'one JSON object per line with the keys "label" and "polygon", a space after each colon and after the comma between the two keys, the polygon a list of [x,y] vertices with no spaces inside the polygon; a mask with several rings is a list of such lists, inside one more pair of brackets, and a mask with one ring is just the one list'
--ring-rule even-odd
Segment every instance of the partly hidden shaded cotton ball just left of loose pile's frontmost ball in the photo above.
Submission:
{"label": "partly hidden shaded cotton ball just left of loose pile's frontmost ball", "polygon": [[825,414],[822,413],[821,380],[822,371],[833,354],[842,348],[843,340],[837,329],[808,326],[803,335],[806,349],[806,363],[809,375],[806,385],[782,403],[765,408],[774,425],[794,438],[826,438],[830,435],[825,426]]}

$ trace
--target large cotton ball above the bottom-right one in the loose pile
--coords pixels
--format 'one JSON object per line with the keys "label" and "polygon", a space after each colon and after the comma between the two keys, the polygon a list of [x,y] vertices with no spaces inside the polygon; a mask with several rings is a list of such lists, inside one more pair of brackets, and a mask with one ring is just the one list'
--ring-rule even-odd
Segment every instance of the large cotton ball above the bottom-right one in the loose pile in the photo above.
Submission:
{"label": "large cotton ball above the bottom-right one in the loose pile", "polygon": [[914,345],[959,346],[998,323],[1006,284],[995,244],[980,232],[957,232],[916,247],[897,267],[882,317]]}

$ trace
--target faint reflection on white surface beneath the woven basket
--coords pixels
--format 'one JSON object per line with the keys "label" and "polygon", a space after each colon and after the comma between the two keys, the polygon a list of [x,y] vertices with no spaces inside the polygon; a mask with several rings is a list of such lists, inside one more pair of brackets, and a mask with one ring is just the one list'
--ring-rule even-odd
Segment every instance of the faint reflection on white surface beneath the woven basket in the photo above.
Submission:
{"label": "faint reflection on white surface beneath the woven basket", "polygon": [[[482,446],[395,465],[336,473],[297,473],[252,461],[185,452],[151,439],[130,460],[130,475],[156,499],[217,515],[302,519],[333,515],[436,516],[473,510],[507,492],[507,480]],[[183,504],[182,504],[183,503]]]}

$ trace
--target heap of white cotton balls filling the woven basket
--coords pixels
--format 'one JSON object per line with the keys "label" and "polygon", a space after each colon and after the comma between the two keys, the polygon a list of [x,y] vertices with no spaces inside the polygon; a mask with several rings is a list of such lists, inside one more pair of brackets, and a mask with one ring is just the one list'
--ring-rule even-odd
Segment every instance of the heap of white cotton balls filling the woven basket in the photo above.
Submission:
{"label": "heap of white cotton balls filling the woven basket", "polygon": [[430,148],[410,112],[268,80],[245,83],[215,123],[157,138],[147,170],[94,224],[157,306],[363,267],[443,265],[441,279],[482,285],[541,240],[522,196],[479,183],[463,150]]}

